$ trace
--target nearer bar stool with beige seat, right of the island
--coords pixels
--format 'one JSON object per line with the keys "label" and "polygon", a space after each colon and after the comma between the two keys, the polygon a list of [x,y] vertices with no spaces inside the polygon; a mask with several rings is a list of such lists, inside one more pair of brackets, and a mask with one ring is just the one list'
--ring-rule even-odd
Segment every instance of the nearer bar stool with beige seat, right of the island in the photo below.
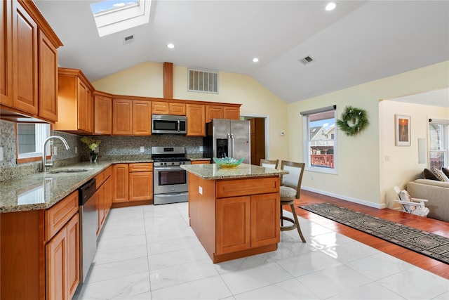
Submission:
{"label": "nearer bar stool with beige seat, right of the island", "polygon": [[[281,175],[281,231],[297,229],[297,233],[300,234],[302,242],[306,242],[306,240],[304,239],[304,235],[302,235],[300,222],[297,220],[294,202],[295,199],[300,199],[304,167],[304,162],[288,162],[286,160],[281,162],[281,170],[288,171],[288,174]],[[290,205],[294,219],[283,216],[283,205]],[[293,223],[293,225],[283,226],[284,220]]]}

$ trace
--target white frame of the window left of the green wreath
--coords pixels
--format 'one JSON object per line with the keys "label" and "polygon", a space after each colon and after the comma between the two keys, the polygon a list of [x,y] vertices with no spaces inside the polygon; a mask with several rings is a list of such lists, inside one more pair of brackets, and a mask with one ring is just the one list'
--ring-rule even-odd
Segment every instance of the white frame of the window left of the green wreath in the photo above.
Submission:
{"label": "white frame of the window left of the green wreath", "polygon": [[311,166],[311,159],[310,159],[310,122],[309,122],[309,117],[311,115],[316,115],[319,114],[321,112],[330,112],[333,111],[333,115],[334,115],[334,121],[337,121],[337,107],[336,105],[333,106],[329,106],[329,107],[321,107],[318,108],[316,110],[308,110],[305,112],[301,112],[302,115],[302,128],[303,128],[303,136],[304,138],[303,140],[303,152],[304,152],[304,162],[305,162],[305,167],[304,169],[306,171],[314,171],[314,172],[318,172],[318,173],[324,173],[324,174],[338,174],[338,151],[337,151],[337,126],[334,123],[334,133],[333,136],[334,138],[332,139],[333,141],[333,163],[334,163],[334,167],[333,169],[331,168],[325,168],[325,167],[314,167]]}

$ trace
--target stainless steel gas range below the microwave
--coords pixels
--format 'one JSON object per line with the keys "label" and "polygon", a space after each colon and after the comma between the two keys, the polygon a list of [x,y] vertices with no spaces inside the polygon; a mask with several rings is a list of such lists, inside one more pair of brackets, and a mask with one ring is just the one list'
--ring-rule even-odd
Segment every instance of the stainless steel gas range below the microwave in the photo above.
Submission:
{"label": "stainless steel gas range below the microwave", "polygon": [[157,205],[187,202],[187,171],[180,167],[181,164],[190,164],[190,159],[185,157],[185,147],[152,147],[152,159],[153,203]]}

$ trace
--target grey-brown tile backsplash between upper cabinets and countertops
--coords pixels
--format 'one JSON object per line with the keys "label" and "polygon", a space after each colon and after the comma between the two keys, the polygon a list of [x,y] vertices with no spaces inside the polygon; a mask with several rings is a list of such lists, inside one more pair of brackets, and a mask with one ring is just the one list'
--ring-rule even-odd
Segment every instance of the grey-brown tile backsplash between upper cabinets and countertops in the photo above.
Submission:
{"label": "grey-brown tile backsplash between upper cabinets and countertops", "polygon": [[[3,148],[3,160],[0,161],[0,181],[19,178],[39,171],[41,162],[17,164],[15,160],[15,123],[0,120],[0,147]],[[58,139],[53,145],[58,147],[57,155],[53,155],[55,167],[64,167],[77,162],[88,161],[90,150],[81,143],[82,136],[61,131],[52,131],[53,136],[62,136],[69,144],[69,150]],[[99,160],[114,159],[146,159],[151,157],[152,146],[185,146],[187,155],[201,157],[201,137],[187,137],[174,134],[154,136],[91,136],[100,141]],[[144,147],[144,152],[140,148]]]}

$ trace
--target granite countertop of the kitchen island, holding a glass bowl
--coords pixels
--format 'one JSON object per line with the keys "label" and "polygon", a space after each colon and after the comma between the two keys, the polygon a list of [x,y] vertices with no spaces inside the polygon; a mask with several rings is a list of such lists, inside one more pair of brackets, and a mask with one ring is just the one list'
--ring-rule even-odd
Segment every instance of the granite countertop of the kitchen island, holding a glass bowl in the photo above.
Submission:
{"label": "granite countertop of the kitchen island, holding a glass bowl", "polygon": [[230,169],[220,168],[217,164],[182,164],[180,167],[200,178],[208,180],[269,177],[288,174],[288,171],[255,166],[254,164],[240,164]]}

